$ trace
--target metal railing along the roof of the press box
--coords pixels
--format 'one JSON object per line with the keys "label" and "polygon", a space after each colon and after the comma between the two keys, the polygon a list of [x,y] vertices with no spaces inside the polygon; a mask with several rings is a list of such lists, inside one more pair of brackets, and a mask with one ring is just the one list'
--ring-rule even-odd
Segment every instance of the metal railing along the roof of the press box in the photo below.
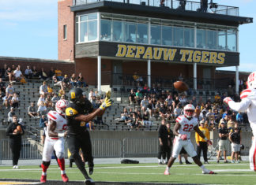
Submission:
{"label": "metal railing along the roof of the press box", "polygon": [[[122,2],[126,4],[135,4],[135,5],[145,5],[145,6],[155,6],[160,7],[160,0],[73,0],[73,6],[86,5],[94,2]],[[183,9],[194,12],[201,12],[201,3],[186,1],[186,5],[181,6],[181,1],[179,0],[165,0],[164,6],[170,9]],[[216,3],[208,5],[206,10],[207,13],[216,13],[228,16],[239,16],[239,7],[235,6],[222,6]]]}

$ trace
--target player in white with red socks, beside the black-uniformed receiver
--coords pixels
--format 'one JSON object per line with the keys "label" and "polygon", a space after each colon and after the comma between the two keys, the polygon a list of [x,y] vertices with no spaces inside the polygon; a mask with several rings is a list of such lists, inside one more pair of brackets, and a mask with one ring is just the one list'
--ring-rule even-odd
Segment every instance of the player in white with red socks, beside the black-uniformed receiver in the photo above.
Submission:
{"label": "player in white with red socks, beside the black-uniformed receiver", "polygon": [[56,111],[51,110],[48,114],[48,126],[46,131],[46,139],[43,147],[43,162],[42,162],[42,176],[41,183],[47,181],[47,168],[51,163],[51,155],[53,150],[56,152],[58,158],[58,165],[61,169],[61,176],[64,183],[69,181],[65,172],[65,158],[64,158],[64,137],[66,136],[66,118],[65,110],[68,105],[66,100],[58,100],[55,105]]}

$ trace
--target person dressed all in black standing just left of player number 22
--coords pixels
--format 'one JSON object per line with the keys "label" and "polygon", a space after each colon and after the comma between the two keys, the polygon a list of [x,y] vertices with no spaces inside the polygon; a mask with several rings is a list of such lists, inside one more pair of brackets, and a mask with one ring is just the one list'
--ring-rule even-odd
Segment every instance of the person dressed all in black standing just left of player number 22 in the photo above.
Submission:
{"label": "person dressed all in black standing just left of player number 22", "polygon": [[[169,158],[171,157],[171,140],[169,135],[171,135],[171,129],[168,131],[168,127],[165,124],[165,120],[161,121],[161,125],[158,128],[158,139],[160,142],[160,150],[158,152],[158,163],[159,165],[164,165],[168,163]],[[166,154],[168,159],[166,160]],[[161,161],[161,157],[163,161]]]}

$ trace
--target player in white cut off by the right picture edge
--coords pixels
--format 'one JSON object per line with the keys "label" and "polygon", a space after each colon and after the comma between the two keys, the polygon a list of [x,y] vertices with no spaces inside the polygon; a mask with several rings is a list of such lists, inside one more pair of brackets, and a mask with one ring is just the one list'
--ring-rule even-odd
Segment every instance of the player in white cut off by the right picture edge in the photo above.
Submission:
{"label": "player in white cut off by the right picture edge", "polygon": [[254,139],[249,151],[250,169],[256,172],[256,72],[250,73],[247,79],[247,89],[240,94],[241,102],[234,102],[232,98],[224,98],[228,106],[238,112],[247,112],[250,128]]}

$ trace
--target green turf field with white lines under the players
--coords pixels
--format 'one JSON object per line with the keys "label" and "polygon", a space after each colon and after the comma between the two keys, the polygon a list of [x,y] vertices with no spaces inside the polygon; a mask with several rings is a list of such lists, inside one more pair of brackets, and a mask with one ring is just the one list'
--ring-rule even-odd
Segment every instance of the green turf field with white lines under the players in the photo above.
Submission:
{"label": "green turf field with white lines under the players", "polygon": [[[95,165],[92,179],[95,181],[117,182],[150,182],[150,183],[194,183],[194,184],[256,184],[256,173],[251,172],[248,162],[240,164],[205,165],[206,168],[217,172],[216,175],[203,175],[197,165],[178,165],[175,163],[170,176],[164,176],[166,165]],[[84,177],[77,168],[66,168],[70,180],[83,180]],[[40,179],[39,166],[20,166],[13,169],[8,166],[0,167],[0,178],[7,179]],[[56,165],[47,170],[47,179],[61,180],[60,170]]]}

